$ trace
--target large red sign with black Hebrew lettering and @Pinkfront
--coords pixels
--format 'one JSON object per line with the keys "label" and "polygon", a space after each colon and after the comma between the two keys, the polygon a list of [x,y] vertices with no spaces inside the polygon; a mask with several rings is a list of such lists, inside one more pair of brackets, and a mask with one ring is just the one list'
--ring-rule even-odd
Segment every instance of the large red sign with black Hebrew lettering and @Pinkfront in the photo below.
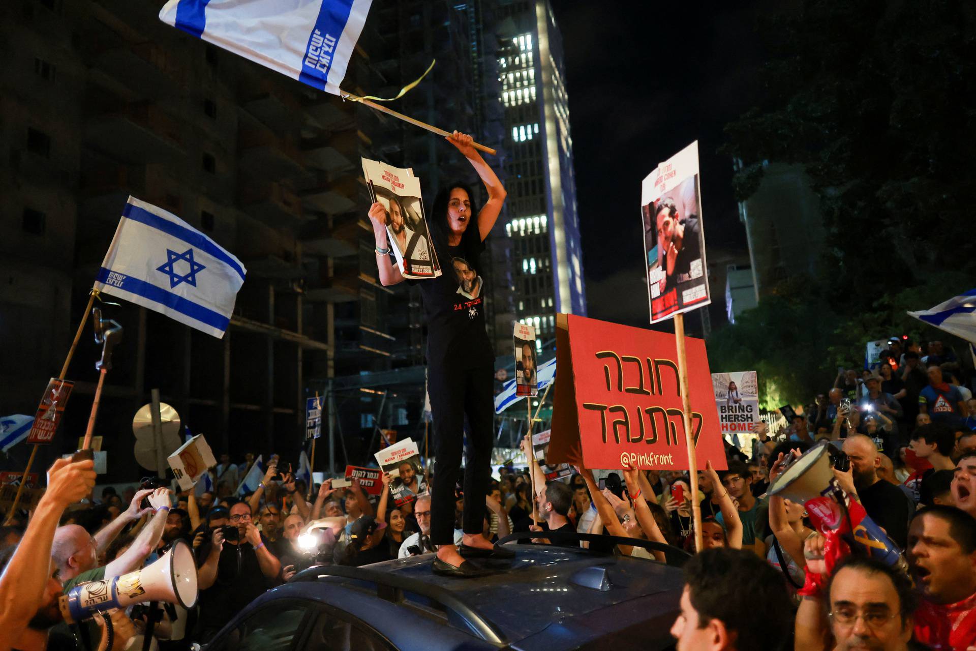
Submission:
{"label": "large red sign with black Hebrew lettering and @Pinkfront", "polygon": [[[685,346],[698,468],[725,469],[705,342]],[[674,335],[559,314],[556,355],[550,465],[689,469]]]}

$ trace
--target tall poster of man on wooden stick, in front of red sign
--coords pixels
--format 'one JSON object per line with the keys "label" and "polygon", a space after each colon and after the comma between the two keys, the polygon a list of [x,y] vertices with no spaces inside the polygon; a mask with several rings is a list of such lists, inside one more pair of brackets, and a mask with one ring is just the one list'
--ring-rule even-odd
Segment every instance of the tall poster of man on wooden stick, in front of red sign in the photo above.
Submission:
{"label": "tall poster of man on wooden stick, in front of red sign", "polygon": [[651,323],[712,303],[705,263],[698,141],[658,165],[640,185]]}

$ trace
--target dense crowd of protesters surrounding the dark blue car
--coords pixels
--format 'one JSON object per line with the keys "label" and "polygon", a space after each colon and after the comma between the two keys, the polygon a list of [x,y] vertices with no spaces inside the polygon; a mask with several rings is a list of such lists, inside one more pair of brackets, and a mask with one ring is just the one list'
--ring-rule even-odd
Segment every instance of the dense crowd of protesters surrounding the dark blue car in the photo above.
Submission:
{"label": "dense crowd of protesters surrounding the dark blue car", "polygon": [[[498,468],[484,502],[483,535],[493,541],[571,545],[665,561],[665,548],[694,552],[691,482],[697,482],[704,549],[685,564],[679,649],[976,648],[976,420],[971,394],[940,343],[921,354],[895,341],[880,369],[838,373],[831,390],[788,427],[756,424],[752,448],[726,443],[727,469],[697,473],[576,464],[547,478],[522,442],[528,468]],[[936,346],[937,345],[937,346]],[[911,406],[910,406],[911,405]],[[851,553],[831,566],[825,537],[802,504],[768,494],[788,456],[828,441],[837,484],[904,551],[905,567]],[[748,447],[748,446],[746,446]],[[92,462],[60,460],[36,506],[0,529],[0,651],[7,648],[159,649],[207,642],[265,590],[320,564],[361,566],[429,554],[429,476],[416,499],[398,504],[393,478],[379,496],[353,479],[308,487],[272,456],[251,493],[234,494],[253,456],[224,455],[212,470],[216,493],[176,486],[106,488],[94,496]],[[535,489],[533,494],[533,487]],[[459,487],[455,540],[468,499]],[[314,536],[303,538],[313,523]],[[587,538],[606,534],[630,539]],[[180,606],[113,610],[82,625],[63,622],[59,596],[88,581],[120,576],[159,558],[178,541],[193,549],[199,599]],[[141,642],[138,642],[141,644]]]}

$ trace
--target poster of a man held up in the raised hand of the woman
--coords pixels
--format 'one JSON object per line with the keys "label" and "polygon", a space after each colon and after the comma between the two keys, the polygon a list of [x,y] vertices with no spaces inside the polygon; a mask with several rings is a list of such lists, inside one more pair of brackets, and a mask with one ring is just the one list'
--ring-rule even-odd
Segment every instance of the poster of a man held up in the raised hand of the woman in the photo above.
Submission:
{"label": "poster of a man held up in the raised hand of the woman", "polygon": [[386,235],[400,273],[405,278],[436,278],[440,264],[424,217],[421,180],[412,169],[369,158],[362,163],[370,198],[386,210]]}

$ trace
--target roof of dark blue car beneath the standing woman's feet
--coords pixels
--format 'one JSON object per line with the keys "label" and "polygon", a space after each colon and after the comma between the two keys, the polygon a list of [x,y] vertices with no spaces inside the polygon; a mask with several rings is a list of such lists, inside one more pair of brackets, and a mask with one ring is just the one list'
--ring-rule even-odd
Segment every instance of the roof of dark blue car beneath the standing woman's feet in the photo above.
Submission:
{"label": "roof of dark blue car beneath the standing woman's feet", "polygon": [[[458,618],[451,615],[469,609],[489,631],[497,631],[500,639],[511,642],[543,631],[563,618],[586,615],[637,598],[641,599],[641,607],[650,612],[676,610],[684,585],[679,569],[654,560],[549,545],[507,548],[516,551],[513,560],[476,561],[494,570],[486,577],[457,579],[435,575],[431,571],[433,557],[428,554],[362,568],[311,568],[303,574],[305,581],[313,580],[315,588],[306,586],[302,591],[342,607],[344,597],[340,592],[344,590],[334,588],[336,584],[355,585],[357,580],[353,577],[359,569],[375,578],[377,585],[384,581],[398,584],[408,603],[414,600],[429,605],[431,600],[425,595],[433,594],[432,601],[448,611],[449,622],[457,624]],[[330,571],[343,576],[328,576]],[[365,579],[364,583],[373,582]],[[438,598],[437,594],[445,596]],[[455,601],[464,607],[459,608]],[[470,618],[463,615],[461,619]],[[478,627],[468,622],[468,629],[477,631]]]}

